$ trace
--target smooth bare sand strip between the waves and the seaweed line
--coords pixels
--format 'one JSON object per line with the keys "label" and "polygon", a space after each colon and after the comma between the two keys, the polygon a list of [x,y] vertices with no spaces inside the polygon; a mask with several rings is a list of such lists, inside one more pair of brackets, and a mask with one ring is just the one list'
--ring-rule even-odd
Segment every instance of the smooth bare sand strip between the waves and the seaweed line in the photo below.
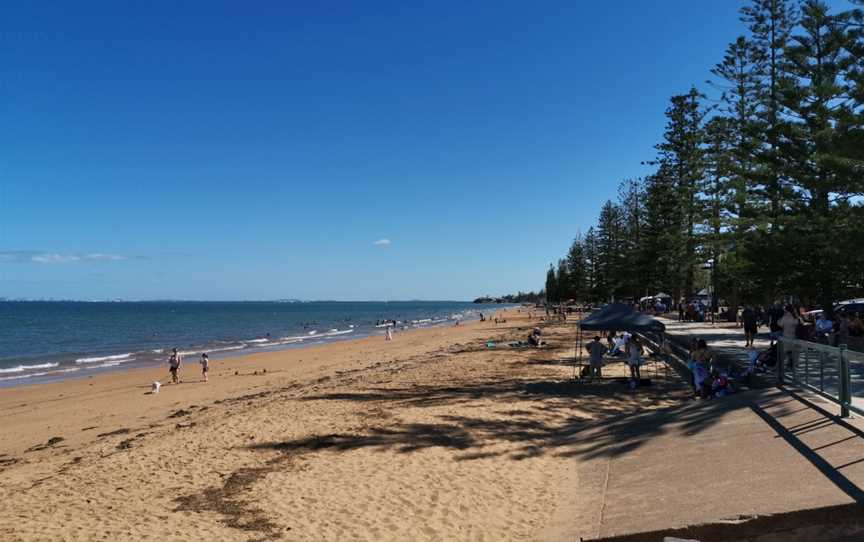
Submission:
{"label": "smooth bare sand strip between the waves and the seaweed line", "polygon": [[[515,313],[515,309],[509,310]],[[507,314],[508,309],[500,309],[500,312]],[[89,426],[101,426],[109,420],[120,425],[137,424],[141,416],[130,402],[152,400],[160,407],[155,412],[158,416],[164,414],[161,407],[167,404],[177,405],[189,400],[209,402],[214,397],[248,393],[253,389],[277,386],[286,380],[293,382],[311,376],[327,379],[340,370],[356,369],[369,355],[388,360],[397,359],[405,351],[414,351],[418,345],[422,348],[430,342],[444,347],[459,337],[474,335],[479,329],[488,327],[486,324],[489,324],[488,320],[481,322],[477,319],[460,326],[402,331],[394,335],[393,341],[385,341],[382,334],[299,348],[242,353],[211,360],[208,383],[201,379],[200,365],[197,359],[193,359],[184,362],[180,384],[170,384],[167,365],[160,365],[3,387],[0,388],[0,412],[5,426],[0,433],[0,454],[22,453],[29,446],[60,436],[54,433],[60,427],[65,429],[70,422],[81,431]],[[505,329],[505,325],[500,327],[501,331]],[[158,395],[150,394],[154,381],[162,383]],[[110,406],[106,411],[108,398]],[[73,442],[80,440],[76,437],[81,435],[73,435]],[[69,439],[68,435],[61,438]]]}

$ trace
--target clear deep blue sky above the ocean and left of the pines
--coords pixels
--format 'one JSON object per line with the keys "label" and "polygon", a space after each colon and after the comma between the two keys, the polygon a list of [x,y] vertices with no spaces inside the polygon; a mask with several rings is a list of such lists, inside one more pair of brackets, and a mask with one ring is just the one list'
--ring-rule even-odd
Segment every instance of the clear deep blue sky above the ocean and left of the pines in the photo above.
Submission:
{"label": "clear deep blue sky above the ocean and left of the pines", "polygon": [[538,289],[740,4],[6,5],[0,296]]}

